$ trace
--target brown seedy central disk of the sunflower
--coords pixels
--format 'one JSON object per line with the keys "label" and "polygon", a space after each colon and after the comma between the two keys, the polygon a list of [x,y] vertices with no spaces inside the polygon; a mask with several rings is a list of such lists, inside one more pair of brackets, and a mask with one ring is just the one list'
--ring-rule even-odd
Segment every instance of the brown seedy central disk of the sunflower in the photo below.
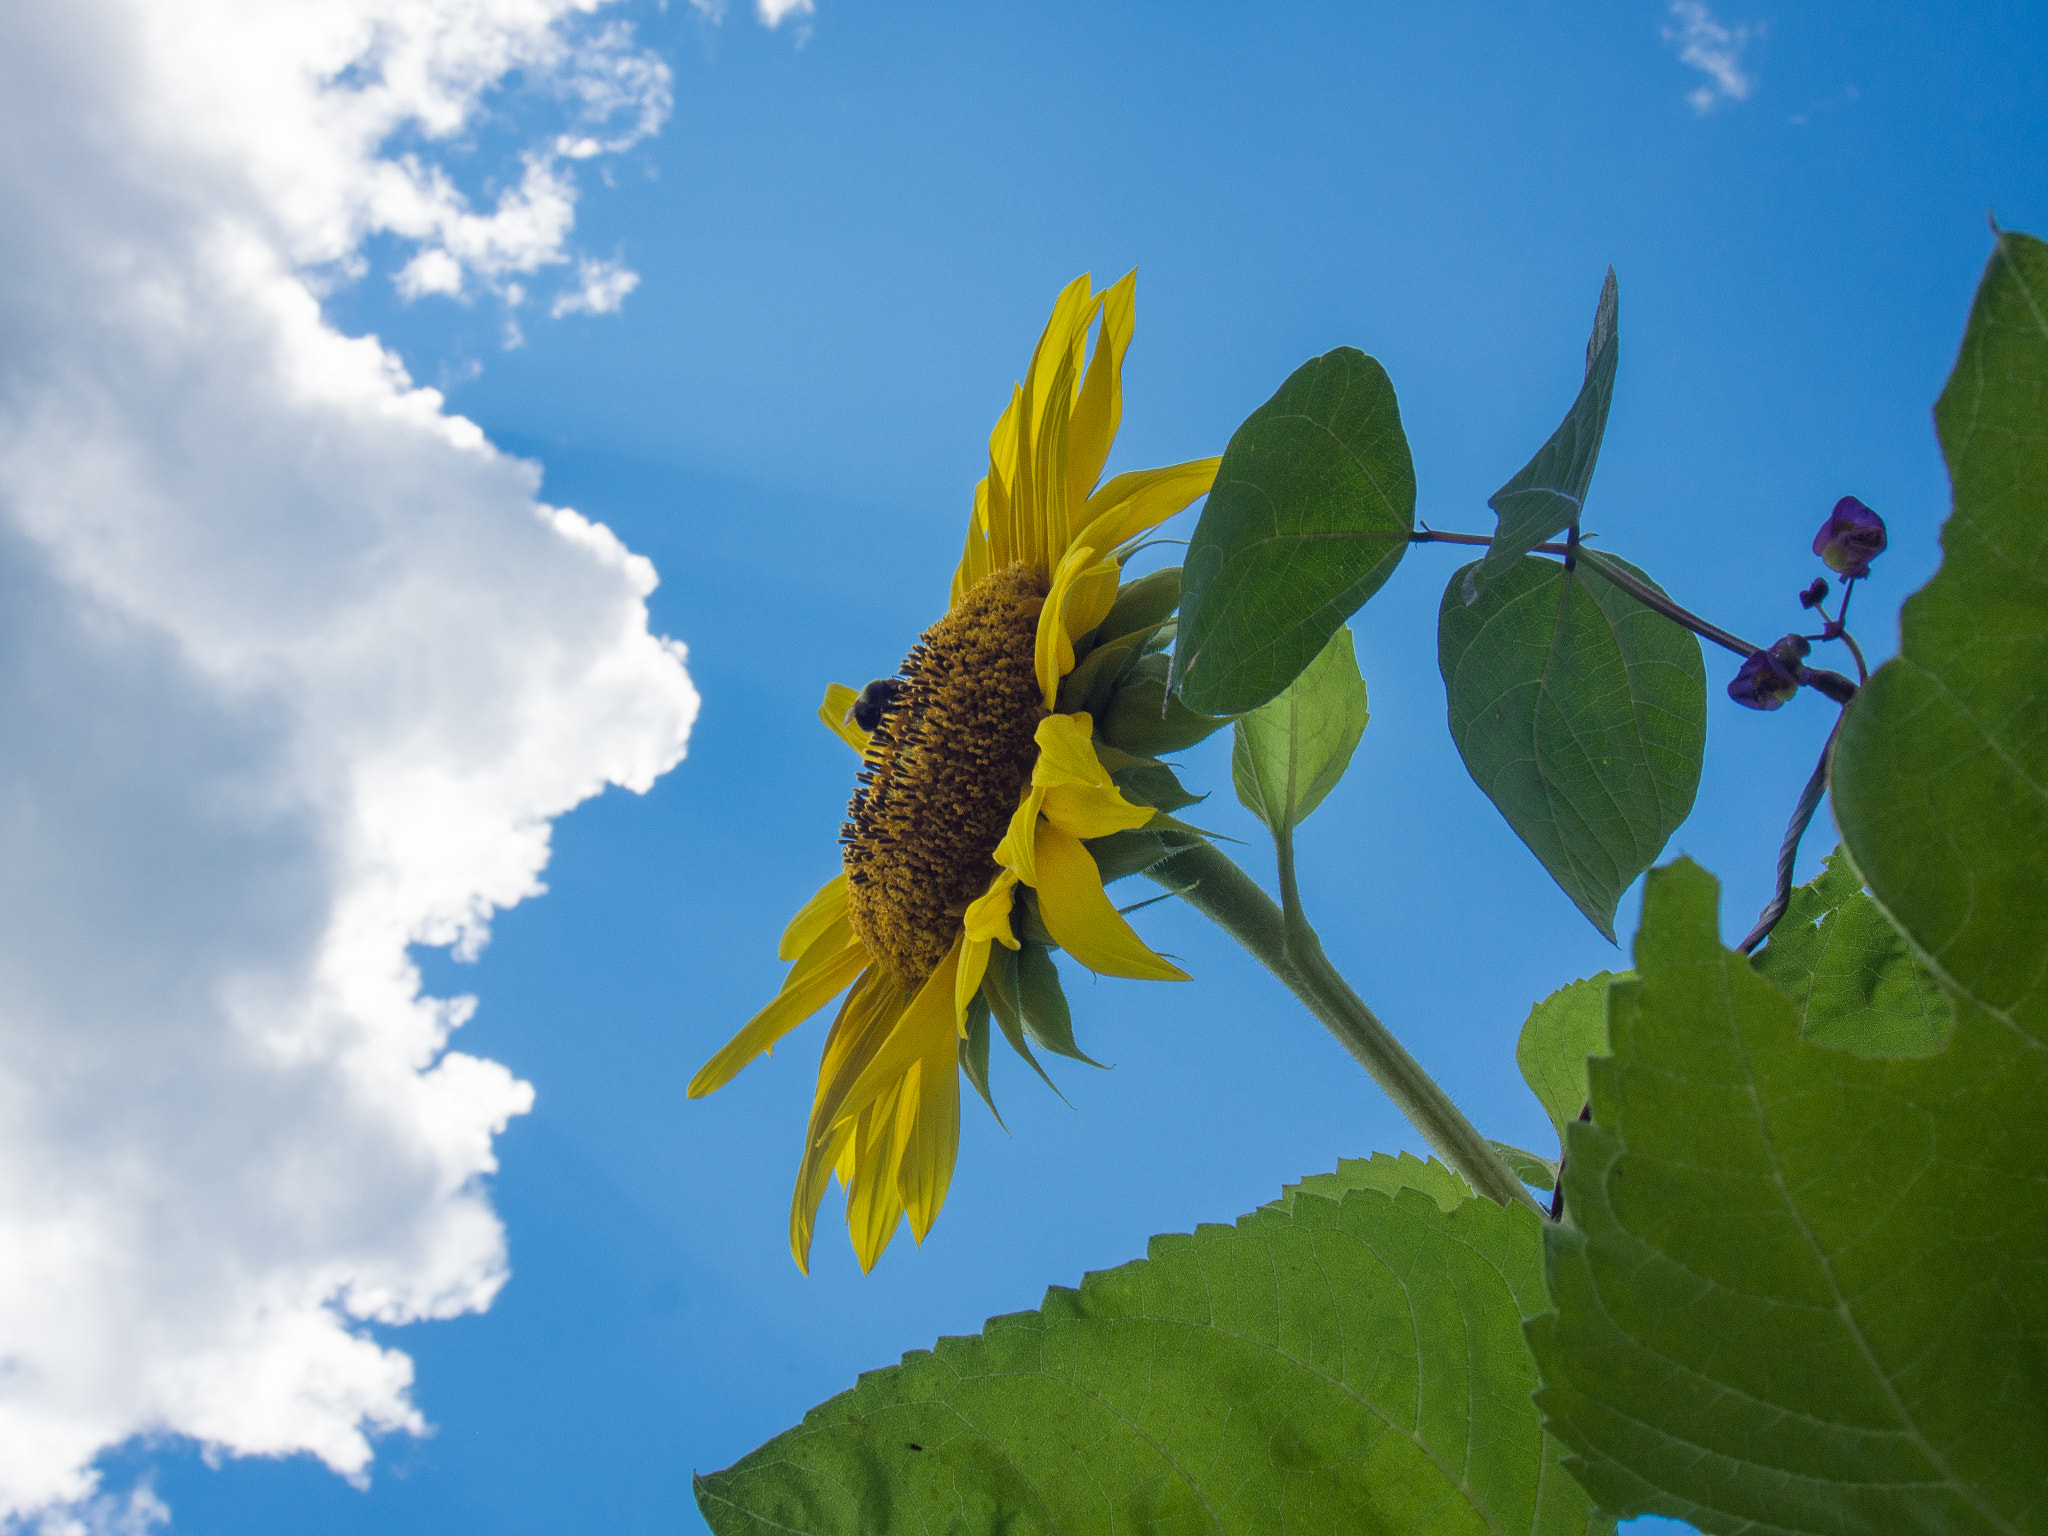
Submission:
{"label": "brown seedy central disk of the sunflower", "polygon": [[846,913],[909,991],[946,958],[987,891],[1032,764],[1044,694],[1032,664],[1047,580],[981,578],[918,639],[868,739],[840,834]]}

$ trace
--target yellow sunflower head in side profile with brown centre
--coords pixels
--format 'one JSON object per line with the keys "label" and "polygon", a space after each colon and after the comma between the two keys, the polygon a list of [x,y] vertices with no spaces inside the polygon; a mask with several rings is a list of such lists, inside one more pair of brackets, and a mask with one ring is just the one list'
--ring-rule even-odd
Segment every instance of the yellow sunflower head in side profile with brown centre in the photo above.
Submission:
{"label": "yellow sunflower head in side profile with brown centre", "polygon": [[[842,870],[784,930],[780,956],[795,965],[782,989],[690,1081],[690,1098],[715,1092],[846,993],[825,1038],[791,1202],[791,1251],[803,1270],[834,1174],[846,1186],[862,1270],[905,1214],[920,1243],[932,1229],[961,1141],[958,1069],[971,1055],[963,1051],[971,1020],[983,1063],[991,1004],[1024,1049],[1010,1024],[1020,926],[1092,971],[1186,981],[1110,903],[1087,848],[1165,819],[1112,782],[1104,756],[1159,764],[1098,752],[1096,717],[1073,707],[1073,688],[1061,709],[1063,682],[1079,682],[1077,657],[1112,608],[1147,606],[1118,604],[1130,543],[1217,475],[1217,461],[1200,459],[1098,487],[1122,416],[1135,279],[1092,293],[1083,274],[1053,305],[1024,383],[989,436],[989,473],[975,487],[946,614],[895,678],[858,694],[844,684],[825,690],[819,719],[862,760],[840,836]],[[1124,637],[1145,643],[1116,649],[1114,670],[1092,668],[1085,700],[1112,705],[1106,684],[1143,674],[1151,692],[1139,688],[1126,713],[1145,715],[1149,705],[1149,719],[1159,719],[1161,670],[1133,664],[1157,649],[1171,600],[1161,608],[1151,596],[1149,606],[1141,616],[1151,627]],[[977,1087],[985,1094],[979,1077]]]}

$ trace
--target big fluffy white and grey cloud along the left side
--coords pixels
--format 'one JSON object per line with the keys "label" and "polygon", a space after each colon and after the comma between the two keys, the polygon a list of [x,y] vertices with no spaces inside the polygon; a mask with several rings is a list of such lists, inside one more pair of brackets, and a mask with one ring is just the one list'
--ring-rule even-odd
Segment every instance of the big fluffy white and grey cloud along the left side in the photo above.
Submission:
{"label": "big fluffy white and grey cloud along the left side", "polygon": [[[475,205],[506,92],[547,131]],[[598,0],[0,6],[0,1524],[160,1526],[94,1481],[133,1436],[358,1475],[424,1427],[367,1323],[506,1280],[532,1092],[408,946],[475,952],[696,696],[647,561],[319,293],[385,236],[616,309],[575,174],[666,111]]]}

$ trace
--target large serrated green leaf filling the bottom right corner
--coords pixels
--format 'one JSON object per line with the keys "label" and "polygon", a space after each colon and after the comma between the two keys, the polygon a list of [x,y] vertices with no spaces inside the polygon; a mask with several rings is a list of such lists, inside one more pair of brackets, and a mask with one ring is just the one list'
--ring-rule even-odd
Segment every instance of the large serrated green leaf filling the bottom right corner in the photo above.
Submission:
{"label": "large serrated green leaf filling the bottom right corner", "polygon": [[1538,1405],[1593,1495],[1706,1532],[2048,1532],[2048,1053],[1800,1038],[1655,870],[1567,1130]]}

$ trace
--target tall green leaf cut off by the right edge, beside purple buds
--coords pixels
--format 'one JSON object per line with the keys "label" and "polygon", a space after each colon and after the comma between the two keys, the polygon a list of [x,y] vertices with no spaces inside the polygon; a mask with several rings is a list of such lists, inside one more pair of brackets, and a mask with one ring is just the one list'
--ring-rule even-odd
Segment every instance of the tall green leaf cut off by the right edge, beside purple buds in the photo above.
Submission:
{"label": "tall green leaf cut off by the right edge, beside purple buds", "polygon": [[2048,1040],[2048,246],[2001,233],[1935,406],[1956,508],[1831,788],[1870,893],[1964,997]]}

